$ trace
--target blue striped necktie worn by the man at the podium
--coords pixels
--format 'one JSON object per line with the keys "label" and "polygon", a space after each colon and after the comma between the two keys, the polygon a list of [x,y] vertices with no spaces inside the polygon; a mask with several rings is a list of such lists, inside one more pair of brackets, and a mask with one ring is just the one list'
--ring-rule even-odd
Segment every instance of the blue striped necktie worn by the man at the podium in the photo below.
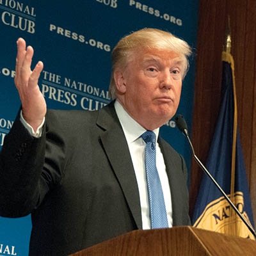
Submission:
{"label": "blue striped necktie worn by the man at the podium", "polygon": [[146,143],[145,168],[150,206],[151,228],[168,227],[163,190],[156,168],[156,134],[146,131],[141,135]]}

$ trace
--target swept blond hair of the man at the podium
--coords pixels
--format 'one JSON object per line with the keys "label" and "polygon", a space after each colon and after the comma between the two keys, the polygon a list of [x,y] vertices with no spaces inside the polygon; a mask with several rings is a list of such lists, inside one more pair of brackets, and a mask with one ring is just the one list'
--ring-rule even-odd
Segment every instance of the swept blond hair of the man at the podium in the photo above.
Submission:
{"label": "swept blond hair of the man at the podium", "polygon": [[186,76],[189,68],[188,57],[191,55],[189,45],[184,40],[172,35],[172,33],[160,29],[144,28],[124,36],[112,51],[112,72],[109,92],[113,99],[116,98],[116,84],[114,79],[116,68],[124,70],[129,60],[131,60],[132,54],[141,49],[162,49],[181,54],[184,58],[184,72],[182,78]]}

